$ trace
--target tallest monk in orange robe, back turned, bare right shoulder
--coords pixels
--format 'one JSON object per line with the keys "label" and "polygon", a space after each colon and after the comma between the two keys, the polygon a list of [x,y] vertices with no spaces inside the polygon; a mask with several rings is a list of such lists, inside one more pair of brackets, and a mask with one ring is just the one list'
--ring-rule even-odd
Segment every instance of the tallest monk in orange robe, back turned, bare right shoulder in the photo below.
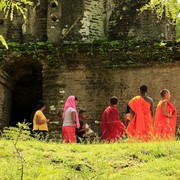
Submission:
{"label": "tallest monk in orange robe, back turned, bare right shoulder", "polygon": [[130,140],[149,141],[152,136],[153,126],[153,100],[148,97],[148,87],[140,87],[140,96],[134,97],[129,102],[132,120],[127,127],[127,135]]}

